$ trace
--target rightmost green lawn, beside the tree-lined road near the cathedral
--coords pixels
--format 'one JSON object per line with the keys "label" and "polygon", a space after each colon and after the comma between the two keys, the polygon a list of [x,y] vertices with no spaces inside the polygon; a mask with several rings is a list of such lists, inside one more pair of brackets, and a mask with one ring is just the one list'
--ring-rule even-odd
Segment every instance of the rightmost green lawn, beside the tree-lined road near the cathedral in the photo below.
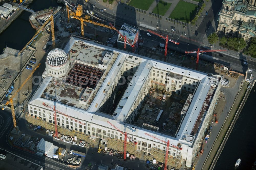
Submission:
{"label": "rightmost green lawn, beside the tree-lined road near the cathedral", "polygon": [[188,23],[197,13],[197,5],[179,1],[169,18]]}

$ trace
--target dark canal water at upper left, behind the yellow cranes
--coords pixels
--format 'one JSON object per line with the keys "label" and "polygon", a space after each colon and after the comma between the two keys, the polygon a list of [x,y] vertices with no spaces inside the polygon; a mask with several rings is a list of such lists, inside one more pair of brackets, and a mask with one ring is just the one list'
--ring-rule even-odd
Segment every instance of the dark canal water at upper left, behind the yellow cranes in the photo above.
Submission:
{"label": "dark canal water at upper left, behind the yellow cranes", "polygon": [[[47,9],[50,6],[56,7],[57,0],[34,0],[28,8],[34,11],[40,11]],[[17,50],[21,50],[28,41],[35,35],[36,30],[31,27],[28,17],[31,13],[23,11],[1,34],[0,34],[0,54],[3,53],[3,49],[11,47]]]}

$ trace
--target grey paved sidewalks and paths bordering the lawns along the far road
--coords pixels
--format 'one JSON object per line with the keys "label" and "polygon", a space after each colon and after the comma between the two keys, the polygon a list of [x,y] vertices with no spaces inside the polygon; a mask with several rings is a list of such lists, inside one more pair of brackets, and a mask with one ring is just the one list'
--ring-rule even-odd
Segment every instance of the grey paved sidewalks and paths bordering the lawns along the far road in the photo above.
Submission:
{"label": "grey paved sidewalks and paths bordering the lawns along the far road", "polygon": [[[166,14],[165,14],[165,16],[167,16],[167,13],[168,13],[168,15],[169,15],[169,13],[170,13],[170,11],[172,11],[173,9],[172,8],[175,8],[175,6],[176,6],[176,4],[178,3],[177,1],[175,1],[175,0],[163,0],[164,2],[168,2],[168,3],[173,3],[171,6],[170,6],[170,8],[167,10],[167,12],[166,12]],[[185,0],[184,0],[185,1]],[[191,1],[191,3],[197,3],[197,2],[195,2],[195,1],[192,1],[192,0],[186,0],[187,2],[190,2]],[[93,0],[90,0],[89,1],[90,3],[92,3],[92,4],[94,4],[94,1]],[[155,7],[156,6],[156,3],[155,3],[156,1],[154,1],[153,3],[152,3],[152,5],[150,6],[150,8],[148,9],[148,11],[146,11],[146,14],[144,14],[144,13],[139,13],[139,12],[137,12],[137,11],[133,11],[132,13],[131,13],[131,10],[130,9],[125,9],[125,6],[127,6],[126,4],[118,4],[116,1],[114,1],[114,3],[113,3],[113,9],[111,8],[109,8],[110,6],[109,6],[109,4],[107,4],[108,5],[108,8],[107,8],[107,15],[109,16],[109,17],[111,17],[111,18],[113,18],[113,19],[115,19],[116,18],[116,11],[117,11],[117,8],[119,8],[119,10],[121,10],[122,11],[122,13],[125,15],[125,17],[126,18],[134,18],[134,17],[136,17],[136,24],[137,24],[137,26],[140,26],[140,27],[143,27],[143,28],[146,28],[146,29],[151,29],[151,30],[154,30],[154,31],[156,31],[156,32],[158,32],[158,33],[160,33],[160,32],[162,32],[162,33],[166,33],[166,34],[169,34],[169,33],[171,33],[171,32],[173,32],[172,30],[171,30],[171,27],[175,27],[176,28],[176,30],[177,30],[177,35],[183,35],[183,33],[184,33],[184,31],[186,32],[186,34],[187,34],[187,37],[191,37],[191,36],[193,36],[194,35],[194,31],[197,29],[196,28],[196,25],[194,25],[194,26],[192,26],[191,27],[191,24],[188,24],[188,23],[185,23],[184,25],[186,25],[186,29],[184,30],[182,27],[183,27],[183,25],[181,24],[179,24],[179,23],[173,23],[173,22],[170,22],[169,20],[167,20],[166,21],[166,19],[165,18],[168,18],[168,17],[162,17],[162,19],[158,19],[158,18],[156,18],[156,17],[153,17],[152,15],[150,16],[149,15],[149,12],[151,12],[150,11],[150,9],[152,8],[152,10],[154,9],[153,8],[153,6]],[[176,4],[175,4],[176,3]],[[207,3],[205,3],[206,4],[206,6],[205,6],[205,10],[206,11],[209,11],[209,10],[211,10],[211,7],[212,7],[212,2],[211,1],[209,1],[209,2],[207,2]],[[111,5],[112,6],[112,5]],[[99,1],[99,3],[97,3],[97,1],[96,1],[96,7],[98,7],[98,8],[102,8],[102,9],[104,9],[104,8],[106,8],[106,3],[103,3],[102,1]],[[127,6],[127,7],[129,7],[129,6]],[[121,9],[120,9],[121,8]],[[136,9],[136,8],[134,8],[134,9]],[[115,12],[115,15],[113,15],[113,11]],[[218,12],[215,12],[216,14],[218,14]],[[134,16],[134,14],[136,14],[136,16]],[[142,22],[142,18],[144,18],[144,22]],[[207,40],[207,34],[209,35],[210,33],[212,33],[212,32],[215,32],[216,31],[216,27],[215,27],[215,25],[217,25],[218,23],[216,23],[217,22],[217,18],[218,18],[218,15],[216,15],[215,16],[215,19],[212,21],[212,23],[214,23],[214,24],[212,24],[212,26],[211,26],[211,28],[209,28],[209,30],[207,30],[207,33],[204,35],[204,37],[203,37],[203,39],[202,39],[202,46],[204,46],[205,48],[210,48],[210,44],[208,43],[208,40]],[[201,22],[203,21],[203,17],[201,17],[201,15],[200,15],[200,17],[198,18],[198,20],[197,20],[197,26],[199,27],[199,25],[201,24]],[[134,19],[135,20],[135,19]],[[157,23],[158,22],[158,23]],[[130,23],[129,21],[127,21],[126,22],[127,24],[130,24],[130,25],[134,25],[135,23]],[[158,26],[160,26],[159,28],[160,29],[158,29],[158,28],[156,28],[156,26],[157,26],[157,24],[158,24]],[[178,33],[178,28],[180,29],[180,33]],[[140,28],[140,29],[142,29],[142,28]],[[146,30],[145,29],[145,30]],[[213,45],[213,44],[211,44],[211,45]],[[218,49],[221,49],[221,47],[218,45],[218,43],[216,43],[216,44],[214,44],[214,48],[210,48],[210,49],[215,49],[215,50],[218,50]],[[223,48],[222,48],[223,49]],[[225,48],[224,48],[225,49]],[[249,59],[253,59],[252,57],[250,57],[250,56],[247,56],[247,55],[244,55],[244,54],[239,54],[239,56],[237,55],[237,53],[236,52],[234,52],[234,51],[232,51],[232,50],[228,50],[227,49],[227,51],[228,52],[221,52],[221,54],[224,54],[224,55],[227,55],[227,56],[230,56],[230,57],[234,57],[234,58],[242,58],[242,57],[246,57],[248,60]]]}

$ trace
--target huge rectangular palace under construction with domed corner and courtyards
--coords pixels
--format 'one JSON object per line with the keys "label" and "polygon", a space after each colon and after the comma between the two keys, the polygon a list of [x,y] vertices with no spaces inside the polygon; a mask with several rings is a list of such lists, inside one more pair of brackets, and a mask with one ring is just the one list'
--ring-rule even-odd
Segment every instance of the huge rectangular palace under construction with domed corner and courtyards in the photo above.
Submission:
{"label": "huge rectangular palace under construction with domed corner and courtyards", "polygon": [[222,78],[76,36],[49,52],[42,76],[28,122],[54,127],[57,121],[60,133],[100,139],[119,151],[126,132],[127,152],[158,162],[169,141],[167,165],[176,168],[196,158]]}

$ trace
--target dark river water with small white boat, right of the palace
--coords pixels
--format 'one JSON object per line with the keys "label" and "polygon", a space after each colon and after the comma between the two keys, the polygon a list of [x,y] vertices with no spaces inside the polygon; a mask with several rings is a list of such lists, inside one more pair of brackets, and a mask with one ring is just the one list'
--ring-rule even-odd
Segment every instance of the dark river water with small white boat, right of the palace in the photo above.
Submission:
{"label": "dark river water with small white boat, right of the palace", "polygon": [[251,169],[256,157],[256,85],[235,123],[235,126],[225,144],[214,169],[235,169],[238,158],[241,164],[237,169]]}

